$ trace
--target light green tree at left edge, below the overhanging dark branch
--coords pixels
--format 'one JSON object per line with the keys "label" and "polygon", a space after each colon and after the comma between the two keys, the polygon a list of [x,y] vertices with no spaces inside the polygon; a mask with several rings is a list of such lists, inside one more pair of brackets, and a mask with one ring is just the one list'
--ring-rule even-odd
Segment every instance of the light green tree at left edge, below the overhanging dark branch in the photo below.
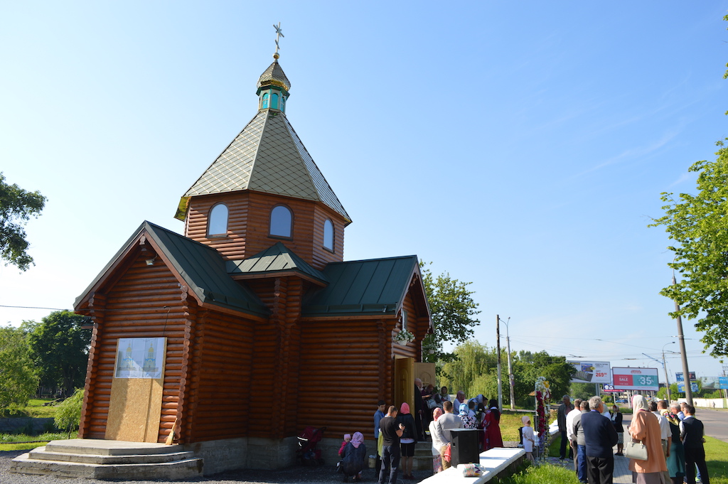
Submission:
{"label": "light green tree at left edge, below the overhanging dark branch", "polygon": [[38,376],[25,332],[12,326],[0,327],[0,408],[24,407],[36,388]]}

